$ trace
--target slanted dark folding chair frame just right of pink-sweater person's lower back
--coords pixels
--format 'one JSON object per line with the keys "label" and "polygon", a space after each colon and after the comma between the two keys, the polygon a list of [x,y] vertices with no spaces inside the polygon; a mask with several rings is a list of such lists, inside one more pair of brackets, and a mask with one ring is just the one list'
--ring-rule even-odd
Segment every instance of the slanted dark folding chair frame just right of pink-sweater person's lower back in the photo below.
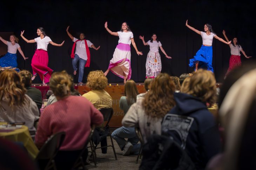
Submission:
{"label": "slanted dark folding chair frame just right of pink-sweater person's lower back", "polygon": [[[86,151],[86,149],[87,149],[87,145],[88,145],[88,143],[91,141],[91,138],[92,138],[92,135],[93,135],[93,133],[94,133],[94,130],[95,130],[95,125],[93,125],[92,127],[91,127],[91,129],[90,129],[90,134],[89,134],[89,136],[88,136],[88,138],[87,138],[87,140],[86,140],[86,143],[85,143],[85,147],[82,149],[82,151],[81,151],[81,153],[79,154],[79,156],[78,156],[78,159],[76,160],[76,162],[74,163],[74,165],[73,165],[73,169],[75,169],[75,168],[79,168],[79,167],[83,167],[83,170],[86,170],[86,168],[85,168],[85,164],[83,163],[83,153],[85,153],[85,151]],[[94,154],[93,154],[93,157],[94,157]],[[94,165],[95,165],[95,167],[96,167],[96,162],[94,162]]]}

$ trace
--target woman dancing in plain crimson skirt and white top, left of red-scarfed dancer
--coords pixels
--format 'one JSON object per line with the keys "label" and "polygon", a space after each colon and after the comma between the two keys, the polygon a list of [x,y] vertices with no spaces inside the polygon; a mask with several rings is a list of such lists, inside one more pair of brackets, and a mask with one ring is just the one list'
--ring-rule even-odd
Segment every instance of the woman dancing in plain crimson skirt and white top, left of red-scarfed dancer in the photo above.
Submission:
{"label": "woman dancing in plain crimson skirt and white top, left of red-scarfed dancer", "polygon": [[50,76],[52,75],[53,70],[48,67],[48,53],[47,46],[52,44],[54,46],[62,46],[64,41],[61,44],[56,44],[52,42],[50,37],[45,34],[45,30],[42,27],[37,29],[37,35],[39,37],[35,39],[28,40],[23,36],[24,31],[21,31],[21,38],[23,38],[27,43],[37,43],[37,49],[31,61],[31,66],[33,69],[32,80],[35,79],[36,75],[40,76],[40,79],[43,81],[43,86],[49,82]]}

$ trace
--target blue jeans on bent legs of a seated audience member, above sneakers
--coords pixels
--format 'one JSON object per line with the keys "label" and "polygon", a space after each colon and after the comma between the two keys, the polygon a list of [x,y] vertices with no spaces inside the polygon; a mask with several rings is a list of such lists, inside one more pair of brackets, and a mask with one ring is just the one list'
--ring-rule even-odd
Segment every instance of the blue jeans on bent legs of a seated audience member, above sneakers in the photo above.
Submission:
{"label": "blue jeans on bent legs of a seated audience member, above sneakers", "polygon": [[120,149],[123,150],[124,145],[126,145],[127,140],[124,138],[128,138],[128,141],[132,143],[133,149],[131,153],[138,154],[140,150],[140,143],[139,138],[136,135],[134,127],[119,127],[112,133],[112,138],[116,140],[117,144],[119,145]]}

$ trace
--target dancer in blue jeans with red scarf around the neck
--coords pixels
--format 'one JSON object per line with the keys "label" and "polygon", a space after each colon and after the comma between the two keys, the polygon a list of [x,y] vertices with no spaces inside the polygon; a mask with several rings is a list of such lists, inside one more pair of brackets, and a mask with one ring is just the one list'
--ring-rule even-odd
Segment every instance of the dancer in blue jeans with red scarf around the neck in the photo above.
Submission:
{"label": "dancer in blue jeans with red scarf around the neck", "polygon": [[[89,51],[89,47],[93,48],[94,50],[99,50],[99,47],[95,47],[93,45],[93,43],[91,43],[89,40],[85,39],[85,34],[81,33],[80,34],[80,39],[77,39],[75,37],[73,37],[69,31],[69,26],[67,28],[67,34],[68,36],[72,39],[72,41],[74,42],[73,47],[72,47],[72,52],[71,52],[71,58],[72,60],[72,65],[73,65],[73,69],[74,69],[74,75],[76,75],[76,71],[77,71],[77,62],[79,61],[79,76],[78,76],[78,82],[79,84],[82,84],[82,80],[83,80],[83,71],[85,69],[85,67],[90,67],[90,51]],[[76,50],[75,50],[76,47]],[[75,50],[75,54],[74,54],[74,50]]]}

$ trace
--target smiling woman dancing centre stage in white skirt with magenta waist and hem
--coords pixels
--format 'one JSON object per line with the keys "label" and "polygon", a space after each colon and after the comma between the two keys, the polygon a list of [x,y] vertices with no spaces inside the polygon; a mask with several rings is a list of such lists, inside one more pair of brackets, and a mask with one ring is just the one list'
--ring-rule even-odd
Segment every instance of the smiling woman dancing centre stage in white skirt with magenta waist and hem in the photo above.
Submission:
{"label": "smiling woman dancing centre stage in white skirt with magenta waist and hem", "polygon": [[130,44],[132,43],[138,55],[142,55],[142,52],[137,49],[133,38],[133,32],[126,22],[122,24],[121,30],[118,32],[110,31],[108,29],[108,22],[105,23],[105,28],[109,34],[119,36],[119,41],[113,54],[113,58],[110,60],[108,69],[104,75],[106,76],[110,70],[115,75],[121,77],[123,82],[126,83],[126,80],[129,80],[132,75]]}

